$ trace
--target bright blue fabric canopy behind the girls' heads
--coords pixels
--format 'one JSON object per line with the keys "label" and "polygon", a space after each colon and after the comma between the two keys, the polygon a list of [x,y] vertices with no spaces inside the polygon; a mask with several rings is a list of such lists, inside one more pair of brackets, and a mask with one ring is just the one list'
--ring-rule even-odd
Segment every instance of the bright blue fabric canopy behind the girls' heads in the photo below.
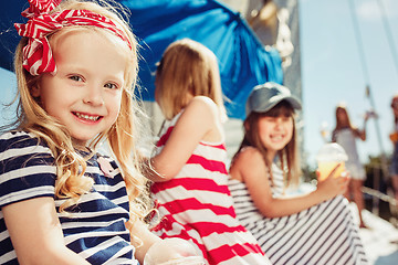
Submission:
{"label": "bright blue fabric canopy behind the girls' heads", "polygon": [[[282,83],[276,50],[259,42],[239,12],[214,0],[118,0],[130,10],[130,24],[140,44],[140,97],[154,100],[156,63],[175,40],[190,38],[214,52],[219,60],[222,91],[230,117],[244,118],[244,103],[253,86]],[[0,8],[0,66],[11,70],[12,51],[19,41],[13,22],[23,21],[25,0]]]}

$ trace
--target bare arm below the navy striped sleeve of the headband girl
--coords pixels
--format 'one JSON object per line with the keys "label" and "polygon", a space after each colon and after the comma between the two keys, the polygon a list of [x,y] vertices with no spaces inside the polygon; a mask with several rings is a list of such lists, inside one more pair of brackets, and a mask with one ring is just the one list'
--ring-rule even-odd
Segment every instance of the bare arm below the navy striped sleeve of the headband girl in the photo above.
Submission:
{"label": "bare arm below the navy striped sleeve of the headband girl", "polygon": [[90,264],[65,246],[52,198],[12,203],[2,212],[20,264]]}

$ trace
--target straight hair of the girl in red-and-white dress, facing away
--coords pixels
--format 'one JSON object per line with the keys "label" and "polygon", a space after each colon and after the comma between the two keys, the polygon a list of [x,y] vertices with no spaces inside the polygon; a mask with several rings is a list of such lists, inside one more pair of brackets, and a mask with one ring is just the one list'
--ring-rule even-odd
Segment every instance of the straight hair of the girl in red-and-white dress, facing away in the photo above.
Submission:
{"label": "straight hair of the girl in red-and-white dress, facing away", "polygon": [[187,95],[210,97],[227,119],[217,57],[199,42],[182,39],[165,51],[156,71],[156,102],[166,119],[187,104]]}

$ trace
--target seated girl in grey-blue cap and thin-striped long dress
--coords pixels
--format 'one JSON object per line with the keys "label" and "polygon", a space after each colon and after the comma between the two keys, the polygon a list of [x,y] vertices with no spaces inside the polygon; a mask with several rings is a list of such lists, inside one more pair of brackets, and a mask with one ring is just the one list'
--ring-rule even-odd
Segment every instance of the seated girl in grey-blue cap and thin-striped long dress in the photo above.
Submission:
{"label": "seated girl in grey-blue cap and thin-striped long dress", "polygon": [[331,176],[315,191],[287,197],[298,183],[294,109],[300,102],[274,83],[254,87],[244,139],[230,168],[238,219],[273,264],[367,264],[343,194],[348,179]]}

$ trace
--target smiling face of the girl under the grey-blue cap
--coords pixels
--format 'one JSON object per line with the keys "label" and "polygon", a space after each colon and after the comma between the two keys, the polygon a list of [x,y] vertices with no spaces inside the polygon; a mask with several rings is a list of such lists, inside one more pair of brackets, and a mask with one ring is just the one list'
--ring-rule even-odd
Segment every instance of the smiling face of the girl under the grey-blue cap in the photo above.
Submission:
{"label": "smiling face of the girl under the grey-blue cap", "polygon": [[260,139],[273,159],[292,139],[293,118],[280,115],[277,117],[262,116],[258,120]]}

